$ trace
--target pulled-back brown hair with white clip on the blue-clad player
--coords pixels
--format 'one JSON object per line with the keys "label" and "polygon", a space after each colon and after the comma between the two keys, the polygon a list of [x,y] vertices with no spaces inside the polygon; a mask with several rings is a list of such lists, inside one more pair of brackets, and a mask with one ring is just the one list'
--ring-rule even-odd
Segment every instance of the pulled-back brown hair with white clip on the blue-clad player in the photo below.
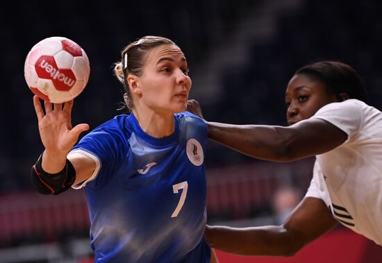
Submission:
{"label": "pulled-back brown hair with white clip on the blue-clad player", "polygon": [[166,37],[147,35],[142,37],[140,40],[125,46],[121,53],[122,60],[115,63],[115,76],[117,76],[118,80],[124,84],[124,101],[128,110],[133,108],[133,98],[131,96],[130,87],[128,87],[127,83],[128,74],[141,76],[142,67],[144,65],[144,56],[149,50],[163,44],[175,43]]}

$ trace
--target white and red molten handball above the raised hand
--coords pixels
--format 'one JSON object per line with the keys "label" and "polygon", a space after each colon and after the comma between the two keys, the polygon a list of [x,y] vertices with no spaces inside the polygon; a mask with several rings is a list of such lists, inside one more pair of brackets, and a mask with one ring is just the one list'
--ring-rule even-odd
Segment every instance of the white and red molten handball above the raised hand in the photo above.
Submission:
{"label": "white and red molten handball above the raised hand", "polygon": [[24,76],[31,91],[51,103],[74,99],[88,84],[90,65],[81,46],[65,37],[48,37],[26,56]]}

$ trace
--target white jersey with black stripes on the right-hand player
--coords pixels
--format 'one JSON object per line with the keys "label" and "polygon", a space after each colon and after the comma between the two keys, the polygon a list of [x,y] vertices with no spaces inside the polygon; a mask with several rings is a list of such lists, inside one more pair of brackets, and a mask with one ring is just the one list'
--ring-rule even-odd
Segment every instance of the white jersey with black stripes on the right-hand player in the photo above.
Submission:
{"label": "white jersey with black stripes on the right-hand player", "polygon": [[348,139],[316,156],[306,197],[321,198],[340,223],[382,246],[382,112],[349,99],[325,105],[312,118],[337,126]]}

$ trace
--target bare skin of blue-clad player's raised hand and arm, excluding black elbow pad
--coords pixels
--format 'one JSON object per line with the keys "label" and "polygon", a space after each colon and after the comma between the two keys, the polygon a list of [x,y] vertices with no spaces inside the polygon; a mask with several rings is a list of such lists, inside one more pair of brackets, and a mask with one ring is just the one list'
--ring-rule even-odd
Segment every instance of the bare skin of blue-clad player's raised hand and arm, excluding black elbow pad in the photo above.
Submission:
{"label": "bare skin of blue-clad player's raised hand and arm, excluding black elbow pad", "polygon": [[[88,124],[78,124],[72,128],[73,101],[62,104],[44,102],[45,112],[38,96],[33,97],[33,105],[38,117],[38,128],[45,150],[42,154],[42,169],[47,173],[58,173],[65,167],[67,154],[78,140],[78,136],[88,130]],[[71,155],[68,157],[76,170],[74,184],[90,178],[96,168],[92,158],[85,155]]]}

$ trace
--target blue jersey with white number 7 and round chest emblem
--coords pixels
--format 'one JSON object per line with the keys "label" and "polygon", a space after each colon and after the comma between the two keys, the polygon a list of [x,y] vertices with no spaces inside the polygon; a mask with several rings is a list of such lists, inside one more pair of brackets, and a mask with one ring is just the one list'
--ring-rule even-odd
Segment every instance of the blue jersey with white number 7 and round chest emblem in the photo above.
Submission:
{"label": "blue jersey with white number 7 and round chest emblem", "polygon": [[133,114],[119,115],[72,150],[97,163],[82,185],[94,262],[210,262],[204,239],[208,130],[189,112],[175,114],[174,122],[174,133],[158,139],[144,133]]}

